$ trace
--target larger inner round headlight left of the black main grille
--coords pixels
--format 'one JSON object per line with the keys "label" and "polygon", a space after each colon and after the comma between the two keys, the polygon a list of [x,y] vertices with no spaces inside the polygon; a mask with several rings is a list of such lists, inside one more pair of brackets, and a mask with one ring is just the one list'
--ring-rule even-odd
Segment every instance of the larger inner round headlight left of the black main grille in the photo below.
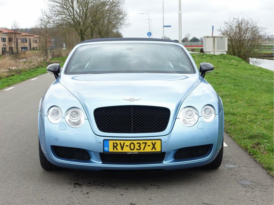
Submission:
{"label": "larger inner round headlight left of the black main grille", "polygon": [[78,128],[84,123],[85,116],[81,109],[77,107],[71,107],[66,111],[65,120],[69,126]]}

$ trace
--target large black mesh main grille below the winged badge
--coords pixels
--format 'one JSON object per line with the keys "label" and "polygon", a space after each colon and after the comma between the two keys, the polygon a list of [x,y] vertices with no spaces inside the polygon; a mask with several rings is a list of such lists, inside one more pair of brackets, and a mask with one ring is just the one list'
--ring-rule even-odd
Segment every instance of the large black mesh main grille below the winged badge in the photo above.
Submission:
{"label": "large black mesh main grille below the winged badge", "polygon": [[111,133],[162,132],[168,125],[169,109],[151,106],[114,106],[94,110],[98,129]]}

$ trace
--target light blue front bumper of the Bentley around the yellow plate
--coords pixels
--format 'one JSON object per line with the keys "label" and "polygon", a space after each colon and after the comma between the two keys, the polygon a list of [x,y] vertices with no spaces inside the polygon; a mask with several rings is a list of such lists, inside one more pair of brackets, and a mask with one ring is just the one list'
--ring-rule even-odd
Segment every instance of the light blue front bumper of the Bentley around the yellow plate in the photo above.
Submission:
{"label": "light blue front bumper of the Bentley around the yellow plate", "polygon": [[[220,114],[216,115],[216,118],[212,123],[204,123],[204,128],[198,128],[199,122],[203,122],[201,117],[194,126],[185,127],[180,123],[179,119],[176,119],[172,131],[165,136],[138,137],[138,134],[133,134],[134,137],[112,138],[95,135],[87,119],[80,128],[71,128],[66,124],[64,119],[62,119],[62,121],[58,124],[52,124],[48,121],[47,116],[44,116],[39,112],[38,132],[41,148],[45,154],[45,157],[52,164],[59,167],[93,171],[106,169],[171,170],[203,166],[216,158],[222,144],[224,113],[222,111]],[[61,123],[62,125],[60,125]],[[165,152],[166,155],[162,162],[155,163],[104,163],[100,158],[100,153],[103,152],[104,139],[161,139],[162,152]],[[210,149],[208,153],[202,157],[181,160],[174,159],[174,155],[178,149],[206,144],[210,144]],[[90,155],[90,160],[71,160],[60,158],[53,151],[52,146],[84,149]]]}

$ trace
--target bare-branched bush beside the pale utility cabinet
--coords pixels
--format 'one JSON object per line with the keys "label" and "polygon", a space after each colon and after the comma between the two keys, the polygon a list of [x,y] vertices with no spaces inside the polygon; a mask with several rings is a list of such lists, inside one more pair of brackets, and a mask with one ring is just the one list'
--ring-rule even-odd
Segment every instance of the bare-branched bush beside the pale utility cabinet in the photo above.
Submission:
{"label": "bare-branched bush beside the pale utility cabinet", "polygon": [[228,36],[228,54],[248,61],[249,57],[259,56],[261,40],[266,35],[266,28],[258,26],[259,21],[240,14],[229,16],[224,27],[217,29],[221,35]]}

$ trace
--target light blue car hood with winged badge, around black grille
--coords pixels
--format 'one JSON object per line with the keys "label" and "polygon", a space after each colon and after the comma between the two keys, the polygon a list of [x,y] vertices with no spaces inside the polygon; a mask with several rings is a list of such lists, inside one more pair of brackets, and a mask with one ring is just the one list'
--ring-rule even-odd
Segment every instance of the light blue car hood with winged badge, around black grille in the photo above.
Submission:
{"label": "light blue car hood with winged badge, around black grille", "polygon": [[[59,81],[81,102],[95,134],[108,135],[97,129],[94,109],[117,105],[148,105],[170,109],[169,125],[161,133],[164,135],[171,131],[170,124],[173,125],[182,101],[201,82],[201,77],[197,74],[106,73],[61,75]],[[124,100],[129,98],[140,99]]]}

